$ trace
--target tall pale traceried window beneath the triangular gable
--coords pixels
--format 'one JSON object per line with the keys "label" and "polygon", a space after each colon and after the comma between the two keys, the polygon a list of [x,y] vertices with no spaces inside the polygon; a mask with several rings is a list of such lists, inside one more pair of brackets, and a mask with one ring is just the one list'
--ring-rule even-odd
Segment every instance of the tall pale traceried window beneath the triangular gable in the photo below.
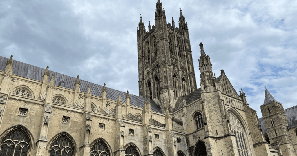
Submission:
{"label": "tall pale traceried window beneath the triangular gable", "polygon": [[238,153],[239,153],[239,155],[242,155],[242,156],[244,156],[244,155],[248,156],[249,151],[247,149],[247,145],[245,142],[245,136],[247,136],[247,135],[245,134],[245,131],[242,128],[242,125],[239,122],[239,120],[237,119],[237,117],[235,115],[233,115],[231,112],[228,112],[228,116],[230,119],[231,130],[232,130],[232,132],[234,131],[236,147],[238,148]]}

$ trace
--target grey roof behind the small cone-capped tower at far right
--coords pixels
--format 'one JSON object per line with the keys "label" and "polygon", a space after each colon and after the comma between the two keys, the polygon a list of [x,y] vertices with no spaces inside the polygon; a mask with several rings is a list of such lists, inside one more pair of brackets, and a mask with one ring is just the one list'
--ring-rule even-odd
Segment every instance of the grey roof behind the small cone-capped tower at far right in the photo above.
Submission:
{"label": "grey roof behind the small cone-capped tower at far right", "polygon": [[[297,127],[297,105],[285,109],[285,113],[287,115],[289,128]],[[262,127],[263,134],[267,133],[263,117],[259,118],[259,122]]]}

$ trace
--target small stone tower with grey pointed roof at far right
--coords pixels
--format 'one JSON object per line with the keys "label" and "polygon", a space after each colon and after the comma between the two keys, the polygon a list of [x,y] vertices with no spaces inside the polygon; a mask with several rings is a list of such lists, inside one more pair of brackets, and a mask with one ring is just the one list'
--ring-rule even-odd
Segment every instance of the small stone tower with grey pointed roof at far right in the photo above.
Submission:
{"label": "small stone tower with grey pointed roof at far right", "polygon": [[295,156],[288,119],[282,103],[275,100],[270,92],[265,89],[264,103],[260,108],[270,143],[277,143],[283,155]]}

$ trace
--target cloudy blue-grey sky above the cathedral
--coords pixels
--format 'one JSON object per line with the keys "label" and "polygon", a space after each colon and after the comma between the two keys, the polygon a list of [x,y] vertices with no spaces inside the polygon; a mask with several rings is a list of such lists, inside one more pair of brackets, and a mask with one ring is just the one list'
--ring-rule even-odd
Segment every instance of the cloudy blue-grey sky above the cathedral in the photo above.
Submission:
{"label": "cloudy blue-grey sky above the cathedral", "polygon": [[[265,86],[297,105],[297,1],[161,0],[167,22],[185,16],[199,87],[199,43],[262,117]],[[155,1],[1,0],[0,55],[138,95],[137,27],[154,25]]]}

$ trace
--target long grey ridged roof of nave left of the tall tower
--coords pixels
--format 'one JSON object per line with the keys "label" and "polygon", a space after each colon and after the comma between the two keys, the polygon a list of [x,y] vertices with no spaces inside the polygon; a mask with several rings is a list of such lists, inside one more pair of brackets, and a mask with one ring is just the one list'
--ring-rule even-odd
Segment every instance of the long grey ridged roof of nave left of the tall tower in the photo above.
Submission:
{"label": "long grey ridged roof of nave left of the tall tower", "polygon": [[[9,59],[3,56],[0,56],[0,70],[4,71],[5,70],[5,66],[6,66],[6,62]],[[19,62],[16,60],[13,60],[13,67],[12,67],[12,72],[15,75],[20,75],[26,78],[31,78],[37,81],[42,81],[42,75],[44,73],[45,69],[44,68],[40,68],[40,67],[36,67],[30,64],[26,64],[23,62]],[[64,75],[61,73],[57,73],[54,71],[49,70],[49,78],[48,78],[48,82],[50,82],[50,78],[52,74],[55,74],[55,85],[59,86],[59,82],[64,81],[65,82],[65,86],[66,88],[69,89],[74,89],[74,83],[76,78],[68,76],[68,75]],[[99,96],[101,97],[101,91],[103,86],[95,84],[95,83],[91,83],[88,81],[84,81],[84,80],[80,80],[80,92],[87,92],[88,89],[88,85],[91,85],[91,93],[92,95],[95,96]],[[108,88],[106,87],[107,90],[107,95],[106,98],[110,99],[110,100],[118,100],[118,96],[119,93],[121,94],[121,99],[122,99],[122,103],[126,103],[125,97],[126,97],[126,92],[121,92],[112,88]],[[133,95],[130,94],[130,105],[134,105],[140,108],[143,108],[143,104],[144,101],[146,101],[146,98],[143,97],[139,97],[137,95]],[[155,112],[159,112],[161,113],[161,109],[158,108],[158,106],[156,105],[156,103],[153,100],[151,101],[151,110],[155,111]]]}

